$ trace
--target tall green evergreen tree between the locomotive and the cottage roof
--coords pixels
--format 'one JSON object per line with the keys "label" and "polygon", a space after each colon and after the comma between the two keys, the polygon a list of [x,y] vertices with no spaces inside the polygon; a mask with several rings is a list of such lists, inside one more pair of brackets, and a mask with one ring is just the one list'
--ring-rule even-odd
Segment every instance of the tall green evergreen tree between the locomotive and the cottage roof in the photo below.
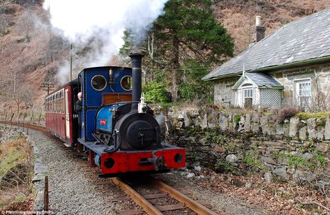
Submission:
{"label": "tall green evergreen tree between the locomotive and the cottage roof", "polygon": [[172,101],[178,100],[179,69],[185,59],[219,64],[233,55],[234,43],[216,21],[211,0],[170,0],[149,31],[151,66],[170,68]]}

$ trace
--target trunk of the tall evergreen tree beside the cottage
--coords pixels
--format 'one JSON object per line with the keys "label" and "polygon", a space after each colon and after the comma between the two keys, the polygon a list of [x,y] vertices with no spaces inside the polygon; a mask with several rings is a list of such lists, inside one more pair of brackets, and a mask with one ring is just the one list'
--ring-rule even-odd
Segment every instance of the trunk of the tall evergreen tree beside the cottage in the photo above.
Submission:
{"label": "trunk of the tall evergreen tree beside the cottage", "polygon": [[179,90],[179,39],[174,36],[173,37],[173,49],[172,49],[172,59],[173,59],[173,64],[172,64],[172,89],[171,89],[171,95],[172,95],[172,101],[177,102],[178,101],[178,90]]}

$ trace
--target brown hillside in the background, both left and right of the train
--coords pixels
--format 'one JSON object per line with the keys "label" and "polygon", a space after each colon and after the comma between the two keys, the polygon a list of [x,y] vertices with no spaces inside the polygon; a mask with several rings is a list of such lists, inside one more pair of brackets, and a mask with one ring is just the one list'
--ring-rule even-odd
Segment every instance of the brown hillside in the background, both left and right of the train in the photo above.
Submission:
{"label": "brown hillside in the background, both left and right of the train", "polygon": [[[42,8],[42,1],[1,2],[1,101],[6,102],[1,102],[0,110],[17,110],[15,101],[20,103],[22,98],[25,100],[22,108],[36,109],[36,106],[43,104],[43,97],[47,94],[40,88],[42,83],[55,82],[59,67],[68,65],[70,45],[68,40],[54,34],[54,29],[49,24],[49,15]],[[328,0],[213,1],[217,20],[234,38],[235,54],[253,43],[256,15],[262,16],[267,36],[283,24],[328,7]],[[88,49],[82,48],[79,54],[86,52]],[[74,62],[73,68],[77,70],[79,65]],[[63,72],[67,74],[67,70]],[[66,77],[63,74],[62,76]],[[17,97],[16,94],[24,96]],[[34,107],[33,103],[36,103]]]}

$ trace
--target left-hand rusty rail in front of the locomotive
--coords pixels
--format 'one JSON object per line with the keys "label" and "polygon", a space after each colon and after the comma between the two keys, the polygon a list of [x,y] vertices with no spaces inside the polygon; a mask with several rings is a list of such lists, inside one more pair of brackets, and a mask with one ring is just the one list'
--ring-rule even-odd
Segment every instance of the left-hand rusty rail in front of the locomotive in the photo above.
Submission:
{"label": "left-hand rusty rail in front of the locomotive", "polygon": [[116,184],[117,186],[120,186],[121,189],[127,194],[130,195],[130,197],[134,200],[137,205],[140,205],[145,212],[148,214],[163,214],[160,212],[156,207],[150,204],[145,198],[142,197],[137,191],[135,191],[133,188],[131,188],[128,184],[121,181],[118,177],[111,178],[112,183]]}

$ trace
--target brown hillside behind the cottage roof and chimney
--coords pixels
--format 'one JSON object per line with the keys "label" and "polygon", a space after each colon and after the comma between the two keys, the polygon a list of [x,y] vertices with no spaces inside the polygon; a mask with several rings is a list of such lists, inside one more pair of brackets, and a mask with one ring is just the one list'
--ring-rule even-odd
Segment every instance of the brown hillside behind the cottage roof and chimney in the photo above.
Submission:
{"label": "brown hillside behind the cottage roof and chimney", "polygon": [[254,42],[256,15],[262,16],[262,22],[266,27],[265,36],[268,36],[288,22],[329,7],[328,0],[216,0],[213,4],[218,21],[234,38],[235,54],[243,52]]}

